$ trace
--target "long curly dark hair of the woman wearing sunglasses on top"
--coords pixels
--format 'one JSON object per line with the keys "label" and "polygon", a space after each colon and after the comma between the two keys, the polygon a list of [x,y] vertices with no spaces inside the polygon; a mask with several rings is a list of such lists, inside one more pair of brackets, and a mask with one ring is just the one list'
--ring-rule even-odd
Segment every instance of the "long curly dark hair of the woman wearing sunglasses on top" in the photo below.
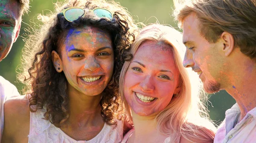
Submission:
{"label": "long curly dark hair of the woman wearing sunglasses on top", "polygon": [[[71,0],[64,4],[55,4],[55,13],[47,16],[39,15],[38,20],[43,22],[40,28],[33,27],[23,49],[23,64],[19,80],[25,84],[24,92],[29,97],[29,109],[36,112],[37,109],[46,108],[44,113],[56,127],[63,126],[70,115],[69,98],[67,95],[67,79],[63,72],[58,73],[52,63],[51,53],[55,50],[60,53],[60,47],[67,31],[71,28],[81,28],[84,25],[100,28],[111,35],[114,50],[114,69],[111,81],[102,92],[100,105],[101,115],[105,123],[116,125],[114,119],[119,116],[122,109],[119,90],[119,75],[124,60],[121,54],[130,47],[134,41],[137,26],[130,14],[119,3],[105,0]],[[82,7],[94,9],[107,8],[113,11],[113,19],[99,18],[91,12],[86,12],[84,17],[68,22],[61,10],[69,7]],[[25,79],[24,79],[25,77]]]}

